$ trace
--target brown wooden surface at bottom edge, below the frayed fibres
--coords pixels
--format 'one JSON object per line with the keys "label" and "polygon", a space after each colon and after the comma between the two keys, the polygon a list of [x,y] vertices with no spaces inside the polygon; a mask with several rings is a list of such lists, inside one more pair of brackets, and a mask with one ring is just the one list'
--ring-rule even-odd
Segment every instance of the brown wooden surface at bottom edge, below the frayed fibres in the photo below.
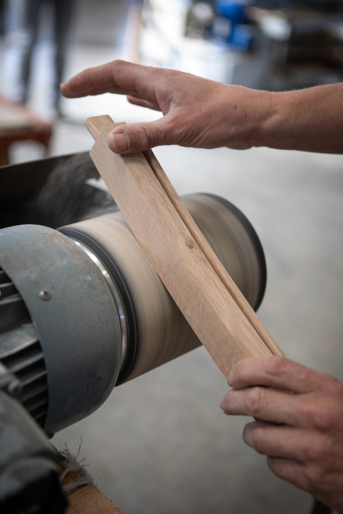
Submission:
{"label": "brown wooden surface at bottom edge, below the frayed fibres", "polygon": [[111,500],[93,484],[74,489],[68,494],[69,507],[65,514],[122,514]]}

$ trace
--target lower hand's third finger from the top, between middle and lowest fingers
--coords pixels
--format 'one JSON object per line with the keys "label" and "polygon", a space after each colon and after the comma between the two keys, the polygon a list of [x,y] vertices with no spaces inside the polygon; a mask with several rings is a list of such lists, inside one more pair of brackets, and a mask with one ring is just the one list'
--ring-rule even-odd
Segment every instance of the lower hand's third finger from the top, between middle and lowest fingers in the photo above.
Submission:
{"label": "lower hand's third finger from the top, between middle and lowest fingers", "polygon": [[269,457],[304,462],[312,451],[308,432],[287,425],[271,425],[252,421],[243,430],[244,443]]}

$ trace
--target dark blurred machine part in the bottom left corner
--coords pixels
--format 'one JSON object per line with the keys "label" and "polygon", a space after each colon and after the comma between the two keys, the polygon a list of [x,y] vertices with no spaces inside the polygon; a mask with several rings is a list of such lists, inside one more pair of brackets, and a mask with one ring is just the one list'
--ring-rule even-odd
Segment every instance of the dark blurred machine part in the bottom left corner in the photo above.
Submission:
{"label": "dark blurred machine part in the bottom left corner", "polygon": [[19,401],[0,391],[0,512],[65,512],[60,455]]}

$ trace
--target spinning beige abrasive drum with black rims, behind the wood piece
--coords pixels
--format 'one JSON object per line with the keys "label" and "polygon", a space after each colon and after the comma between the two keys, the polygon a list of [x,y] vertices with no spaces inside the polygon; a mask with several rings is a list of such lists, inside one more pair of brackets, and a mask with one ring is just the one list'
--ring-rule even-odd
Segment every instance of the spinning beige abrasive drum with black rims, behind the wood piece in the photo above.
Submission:
{"label": "spinning beige abrasive drum with black rims, behind the wood piece", "polygon": [[[194,194],[182,199],[222,264],[256,310],[263,297],[266,271],[255,230],[246,217],[223,198]],[[128,340],[117,383],[131,380],[201,344],[120,212],[87,219],[60,230],[97,254],[120,291]]]}

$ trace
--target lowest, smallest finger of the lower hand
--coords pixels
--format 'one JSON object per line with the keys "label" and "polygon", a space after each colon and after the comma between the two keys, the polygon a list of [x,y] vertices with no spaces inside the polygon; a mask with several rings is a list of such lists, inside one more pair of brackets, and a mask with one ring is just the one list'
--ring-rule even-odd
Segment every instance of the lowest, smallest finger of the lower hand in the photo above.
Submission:
{"label": "lowest, smallest finger of the lower hand", "polygon": [[311,482],[304,464],[284,458],[267,457],[267,465],[279,479],[286,480],[305,491],[311,491]]}

